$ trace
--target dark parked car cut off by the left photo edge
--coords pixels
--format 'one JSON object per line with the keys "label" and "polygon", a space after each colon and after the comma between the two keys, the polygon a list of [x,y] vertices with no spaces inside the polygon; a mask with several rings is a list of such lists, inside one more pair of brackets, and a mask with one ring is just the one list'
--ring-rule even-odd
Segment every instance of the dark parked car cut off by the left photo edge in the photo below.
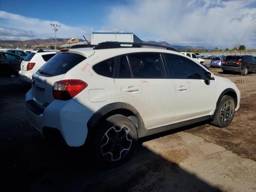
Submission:
{"label": "dark parked car cut off by the left photo edge", "polygon": [[20,63],[23,60],[24,58],[19,55],[10,52],[0,52],[0,73],[18,73],[20,70]]}

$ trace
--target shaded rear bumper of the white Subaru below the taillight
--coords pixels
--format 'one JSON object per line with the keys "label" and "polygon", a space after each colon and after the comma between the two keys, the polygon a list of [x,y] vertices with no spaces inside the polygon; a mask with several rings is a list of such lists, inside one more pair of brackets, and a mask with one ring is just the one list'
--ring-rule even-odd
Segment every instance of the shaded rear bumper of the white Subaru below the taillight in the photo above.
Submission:
{"label": "shaded rear bumper of the white Subaru below the taillight", "polygon": [[[31,89],[26,94],[26,102],[33,100]],[[87,122],[94,114],[89,108],[74,100],[54,100],[42,112],[36,114],[27,104],[26,114],[34,128],[43,132],[46,127],[56,128],[68,146],[82,146],[86,140]]]}

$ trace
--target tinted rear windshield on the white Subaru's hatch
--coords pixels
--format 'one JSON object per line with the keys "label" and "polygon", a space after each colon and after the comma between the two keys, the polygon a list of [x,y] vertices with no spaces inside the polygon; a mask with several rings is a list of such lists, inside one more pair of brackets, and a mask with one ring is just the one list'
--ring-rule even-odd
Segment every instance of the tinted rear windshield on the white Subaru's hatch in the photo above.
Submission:
{"label": "tinted rear windshield on the white Subaru's hatch", "polygon": [[48,60],[36,74],[46,74],[57,76],[65,74],[78,63],[85,60],[86,57],[76,53],[60,53]]}

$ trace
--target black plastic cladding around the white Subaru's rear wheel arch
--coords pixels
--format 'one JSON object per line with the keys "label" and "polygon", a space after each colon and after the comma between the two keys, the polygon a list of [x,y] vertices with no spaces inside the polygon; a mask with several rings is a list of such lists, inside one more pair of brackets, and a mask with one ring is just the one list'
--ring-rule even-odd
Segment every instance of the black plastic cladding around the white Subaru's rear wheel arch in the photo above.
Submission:
{"label": "black plastic cladding around the white Subaru's rear wheel arch", "polygon": [[144,130],[144,122],[139,112],[133,106],[124,102],[110,103],[96,111],[87,123],[88,136],[92,136],[98,124],[100,124],[106,118],[115,114],[121,114],[126,117],[135,116],[138,120],[138,125],[135,126],[137,128],[138,137],[140,137],[140,131]]}

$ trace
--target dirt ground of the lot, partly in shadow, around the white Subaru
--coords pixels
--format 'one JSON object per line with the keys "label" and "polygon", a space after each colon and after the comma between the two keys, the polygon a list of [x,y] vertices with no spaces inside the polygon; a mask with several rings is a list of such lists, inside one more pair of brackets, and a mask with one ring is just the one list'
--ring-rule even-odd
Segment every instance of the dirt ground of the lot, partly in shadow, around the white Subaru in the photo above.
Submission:
{"label": "dirt ground of the lot, partly in shadow, around the white Subaru", "polygon": [[202,122],[143,138],[129,162],[104,169],[86,150],[49,146],[26,118],[30,86],[1,76],[0,191],[256,191],[256,73],[243,80],[240,110],[227,128]]}

